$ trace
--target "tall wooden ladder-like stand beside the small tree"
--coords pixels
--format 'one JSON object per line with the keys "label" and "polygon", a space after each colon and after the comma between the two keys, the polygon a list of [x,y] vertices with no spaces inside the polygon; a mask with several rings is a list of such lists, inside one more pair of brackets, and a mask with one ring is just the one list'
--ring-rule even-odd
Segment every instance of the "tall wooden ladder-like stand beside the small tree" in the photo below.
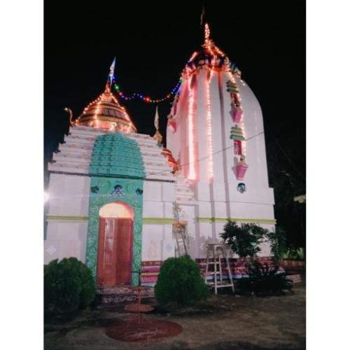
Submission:
{"label": "tall wooden ladder-like stand beside the small tree", "polygon": [[[213,258],[213,261],[209,259]],[[228,279],[230,281],[223,281],[223,269],[221,267],[221,259],[226,262],[226,269],[228,271]],[[214,272],[209,272],[209,265],[214,265]],[[214,275],[214,281],[208,281],[209,276]],[[219,275],[219,276],[218,276]],[[207,266],[205,269],[204,281],[207,286],[214,286],[215,294],[218,294],[218,288],[231,287],[232,292],[235,293],[235,286],[233,285],[230,264],[228,262],[228,254],[225,244],[211,243],[207,245]]]}

